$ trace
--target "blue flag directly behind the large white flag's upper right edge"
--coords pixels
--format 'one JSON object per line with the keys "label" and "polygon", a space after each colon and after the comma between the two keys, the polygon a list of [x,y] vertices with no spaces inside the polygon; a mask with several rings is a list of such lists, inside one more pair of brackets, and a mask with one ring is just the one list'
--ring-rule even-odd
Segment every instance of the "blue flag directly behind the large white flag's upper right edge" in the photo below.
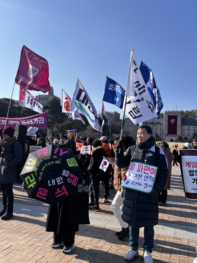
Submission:
{"label": "blue flag directly behind the large white flag's upper right edge", "polygon": [[139,67],[139,70],[142,74],[142,77],[144,79],[144,82],[147,86],[147,89],[152,97],[153,103],[154,103],[154,107],[156,109],[156,93],[155,93],[155,89],[156,87],[156,82],[155,82],[155,78],[153,76],[153,72],[150,69],[150,67],[148,67],[146,64],[144,64],[143,62],[141,62],[141,65]]}

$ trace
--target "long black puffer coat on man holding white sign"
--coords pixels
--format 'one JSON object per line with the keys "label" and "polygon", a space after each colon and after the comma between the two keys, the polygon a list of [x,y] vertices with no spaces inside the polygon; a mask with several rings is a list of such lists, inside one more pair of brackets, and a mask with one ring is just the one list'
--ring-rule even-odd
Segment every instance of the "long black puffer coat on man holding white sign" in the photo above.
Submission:
{"label": "long black puffer coat on man holding white sign", "polygon": [[[130,161],[144,163],[145,160],[147,160],[147,164],[157,166],[158,170],[154,188],[157,188],[159,192],[162,192],[166,185],[168,168],[166,157],[161,149],[159,161],[156,163],[154,144],[155,139],[151,136],[147,142],[136,142],[136,146],[129,147],[125,154],[123,149],[121,149],[120,153],[119,150],[116,150],[115,162],[119,168],[128,167]],[[133,152],[133,156],[131,156],[131,152],[134,147],[135,151]],[[151,156],[147,156],[149,149],[151,149]],[[158,197],[152,200],[149,196],[147,196],[147,193],[125,188],[122,212],[123,221],[127,222],[130,226],[133,226],[136,229],[157,225],[159,217]]]}

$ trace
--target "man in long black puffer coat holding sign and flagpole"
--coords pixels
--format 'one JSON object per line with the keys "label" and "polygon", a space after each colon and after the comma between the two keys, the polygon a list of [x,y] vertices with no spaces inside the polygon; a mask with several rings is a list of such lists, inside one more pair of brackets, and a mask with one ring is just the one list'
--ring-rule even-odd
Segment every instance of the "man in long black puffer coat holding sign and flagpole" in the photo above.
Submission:
{"label": "man in long black puffer coat holding sign and flagpole", "polygon": [[[158,194],[162,192],[168,176],[166,157],[161,149],[155,147],[155,139],[148,125],[141,125],[137,132],[136,146],[131,146],[123,152],[121,140],[116,144],[115,163],[119,168],[126,168],[130,161],[157,166],[154,189],[150,193],[122,188],[123,199],[122,219],[129,224],[130,251],[124,256],[126,261],[137,257],[139,228],[144,227],[143,257],[145,263],[152,263],[151,252],[154,247],[154,225],[158,224]],[[119,153],[119,148],[121,149]],[[156,154],[155,154],[156,152]]]}

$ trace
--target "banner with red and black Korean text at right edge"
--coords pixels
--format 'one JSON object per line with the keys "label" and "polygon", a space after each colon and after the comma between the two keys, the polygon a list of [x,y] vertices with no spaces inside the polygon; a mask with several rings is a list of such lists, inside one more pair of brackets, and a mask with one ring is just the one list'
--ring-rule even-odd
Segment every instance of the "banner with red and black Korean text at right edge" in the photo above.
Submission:
{"label": "banner with red and black Korean text at right edge", "polygon": [[196,149],[181,149],[179,153],[185,197],[197,200],[197,151]]}

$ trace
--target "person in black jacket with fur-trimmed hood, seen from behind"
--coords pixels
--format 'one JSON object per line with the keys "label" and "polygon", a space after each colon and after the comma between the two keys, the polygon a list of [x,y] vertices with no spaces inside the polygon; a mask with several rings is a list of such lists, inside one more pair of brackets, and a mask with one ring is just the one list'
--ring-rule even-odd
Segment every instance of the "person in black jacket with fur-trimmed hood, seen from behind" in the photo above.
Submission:
{"label": "person in black jacket with fur-trimmed hood, seen from behind", "polygon": [[90,165],[88,167],[91,180],[89,210],[99,212],[99,184],[100,180],[103,180],[103,177],[105,176],[99,167],[103,161],[103,156],[107,157],[107,154],[103,149],[101,141],[95,140],[92,143],[92,146],[93,150],[91,151]]}

